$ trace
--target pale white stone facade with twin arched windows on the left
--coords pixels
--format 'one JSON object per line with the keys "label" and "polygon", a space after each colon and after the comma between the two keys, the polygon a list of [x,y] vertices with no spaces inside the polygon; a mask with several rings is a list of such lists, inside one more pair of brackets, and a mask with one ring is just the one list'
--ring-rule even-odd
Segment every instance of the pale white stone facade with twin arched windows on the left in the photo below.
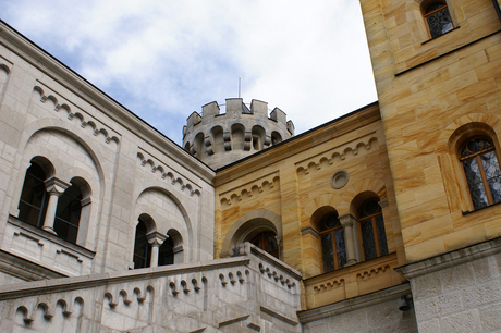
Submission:
{"label": "pale white stone facade with twin arched windows on the left", "polygon": [[[174,263],[212,259],[213,171],[16,32],[4,26],[1,39],[0,249],[4,262],[29,263],[5,263],[2,282],[133,268],[142,214],[148,233],[175,238]],[[49,192],[85,184],[74,244],[46,232],[58,195],[44,230],[19,219],[35,160]]]}

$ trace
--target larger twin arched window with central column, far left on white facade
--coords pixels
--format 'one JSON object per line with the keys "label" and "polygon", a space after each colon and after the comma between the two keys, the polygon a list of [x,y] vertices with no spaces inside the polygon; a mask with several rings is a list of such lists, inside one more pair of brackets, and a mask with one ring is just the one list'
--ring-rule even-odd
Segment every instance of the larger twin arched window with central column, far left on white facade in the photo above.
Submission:
{"label": "larger twin arched window with central column, far left on white facade", "polygon": [[[48,161],[46,164],[50,164]],[[48,177],[44,168],[35,160],[26,170],[23,189],[21,192],[19,219],[36,227],[56,233],[58,237],[76,243],[82,207],[89,203],[89,187],[82,178],[74,178],[63,192],[48,190]],[[87,189],[83,193],[83,188]],[[84,195],[87,197],[84,200]],[[51,198],[51,196],[53,198]],[[57,200],[56,211],[48,212],[49,200]],[[50,218],[50,221],[46,221]],[[53,220],[51,219],[53,217]]]}

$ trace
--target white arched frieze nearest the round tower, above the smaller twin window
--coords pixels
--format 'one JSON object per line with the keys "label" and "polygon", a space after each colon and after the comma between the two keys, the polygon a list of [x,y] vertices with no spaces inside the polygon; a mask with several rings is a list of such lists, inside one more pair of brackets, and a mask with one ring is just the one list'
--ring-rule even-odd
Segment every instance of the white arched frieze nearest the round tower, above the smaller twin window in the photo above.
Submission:
{"label": "white arched frieze nearest the round tower, above the smaller twin window", "polygon": [[152,157],[148,153],[145,149],[139,147],[139,151],[137,152],[137,158],[142,166],[148,166],[151,169],[152,173],[158,173],[159,177],[162,180],[170,181],[171,185],[179,184],[181,190],[187,189],[190,195],[201,195],[200,187],[192,182],[190,182],[184,176],[180,175],[178,172],[169,168],[167,164],[161,162],[160,160]]}

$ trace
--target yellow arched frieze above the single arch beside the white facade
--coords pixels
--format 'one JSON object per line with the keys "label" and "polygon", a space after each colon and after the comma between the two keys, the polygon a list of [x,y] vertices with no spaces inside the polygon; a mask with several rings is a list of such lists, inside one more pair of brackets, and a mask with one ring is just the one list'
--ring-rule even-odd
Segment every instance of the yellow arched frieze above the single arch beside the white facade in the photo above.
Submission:
{"label": "yellow arched frieze above the single arch beside the white facade", "polygon": [[272,189],[280,184],[280,177],[278,173],[270,174],[268,176],[256,180],[254,183],[248,183],[237,188],[219,195],[221,208],[229,208],[232,203],[248,199],[255,195],[262,194],[269,189]]}

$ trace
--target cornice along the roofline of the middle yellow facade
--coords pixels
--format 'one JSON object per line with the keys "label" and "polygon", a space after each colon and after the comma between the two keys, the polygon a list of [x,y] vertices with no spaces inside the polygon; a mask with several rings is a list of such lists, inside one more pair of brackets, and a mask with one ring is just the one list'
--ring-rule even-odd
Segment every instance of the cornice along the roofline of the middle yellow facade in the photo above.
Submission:
{"label": "cornice along the roofline of the middle yellow facade", "polygon": [[[218,169],[212,184],[215,186],[220,186],[221,184],[242,177],[245,174],[260,170],[265,165],[284,160],[293,155],[310,149],[314,146],[321,145],[332,138],[379,121],[380,119],[379,104],[374,102],[268,149],[261,150],[248,158]],[[243,163],[243,161],[245,161],[245,163]]]}

